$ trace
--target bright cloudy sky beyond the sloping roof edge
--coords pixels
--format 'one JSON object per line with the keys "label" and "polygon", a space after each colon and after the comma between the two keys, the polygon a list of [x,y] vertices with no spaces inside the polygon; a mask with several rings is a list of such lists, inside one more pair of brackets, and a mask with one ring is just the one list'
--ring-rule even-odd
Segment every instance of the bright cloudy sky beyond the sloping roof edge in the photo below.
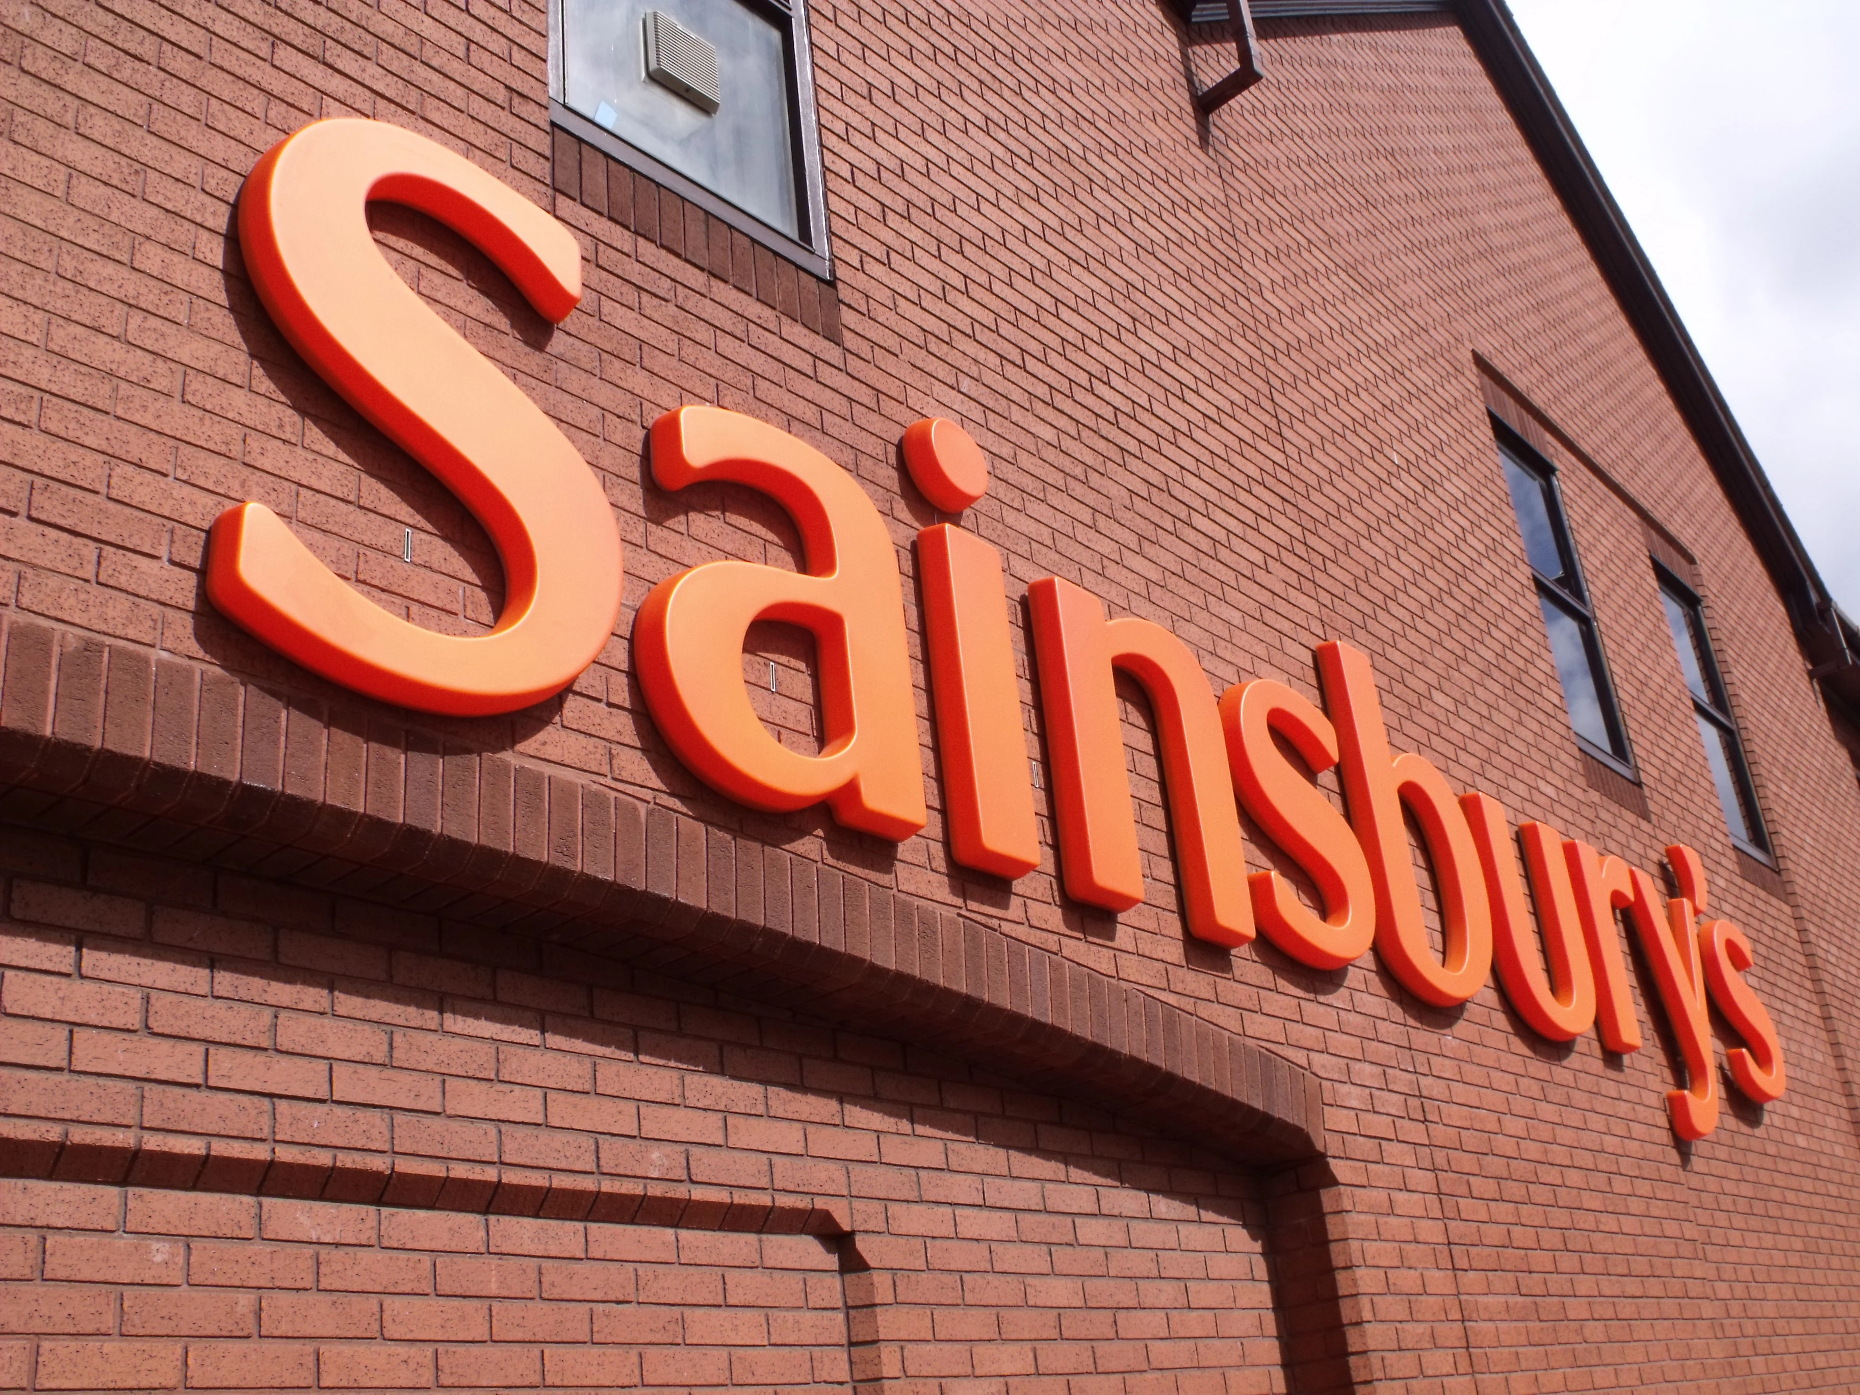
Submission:
{"label": "bright cloudy sky beyond the sloping roof edge", "polygon": [[1860,618],[1860,0],[1510,0]]}

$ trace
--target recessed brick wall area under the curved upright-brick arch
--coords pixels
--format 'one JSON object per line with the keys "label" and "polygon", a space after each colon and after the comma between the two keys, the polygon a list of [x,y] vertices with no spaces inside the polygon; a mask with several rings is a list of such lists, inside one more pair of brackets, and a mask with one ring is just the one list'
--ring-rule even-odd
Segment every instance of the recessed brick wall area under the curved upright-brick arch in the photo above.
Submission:
{"label": "recessed brick wall area under the curved upright-brick arch", "polygon": [[532,941],[0,867],[0,1388],[1283,1389],[1220,1159]]}

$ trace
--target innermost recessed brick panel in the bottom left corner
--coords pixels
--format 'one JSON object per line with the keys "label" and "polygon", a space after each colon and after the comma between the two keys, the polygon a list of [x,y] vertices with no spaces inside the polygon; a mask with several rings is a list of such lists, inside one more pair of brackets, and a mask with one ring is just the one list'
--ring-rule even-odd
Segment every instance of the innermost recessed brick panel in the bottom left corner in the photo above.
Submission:
{"label": "innermost recessed brick panel in the bottom left corner", "polygon": [[[46,1183],[45,1207],[119,1211],[113,1189]],[[257,1202],[234,1202],[247,1213]],[[407,1213],[298,1205],[264,1237],[0,1229],[0,1332],[33,1389],[820,1388],[848,1380],[839,1246],[813,1235],[560,1222],[545,1257],[474,1222],[465,1246],[383,1248]],[[6,1211],[0,1220],[28,1215]],[[870,1317],[869,1306],[861,1315]],[[182,1375],[184,1373],[184,1375]]]}

